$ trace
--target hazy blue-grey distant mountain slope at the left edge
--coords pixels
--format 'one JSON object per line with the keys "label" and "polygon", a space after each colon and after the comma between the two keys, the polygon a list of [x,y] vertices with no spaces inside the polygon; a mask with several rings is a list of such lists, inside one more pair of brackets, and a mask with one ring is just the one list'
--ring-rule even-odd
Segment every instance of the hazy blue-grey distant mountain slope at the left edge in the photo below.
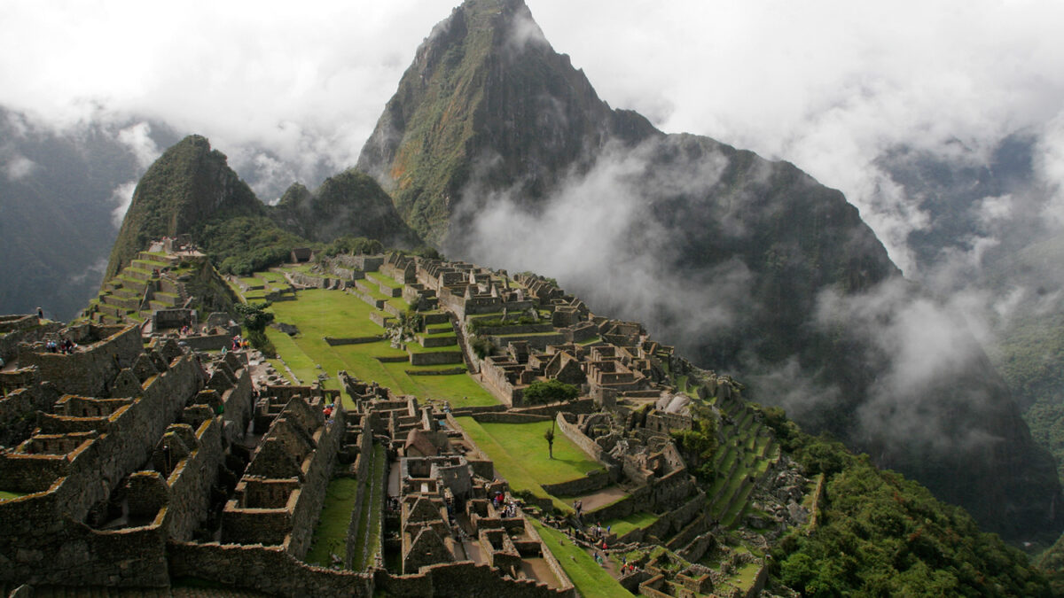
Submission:
{"label": "hazy blue-grey distant mountain slope at the left edge", "polygon": [[71,318],[99,287],[117,232],[116,193],[142,171],[121,127],[61,131],[0,107],[0,313],[40,305]]}

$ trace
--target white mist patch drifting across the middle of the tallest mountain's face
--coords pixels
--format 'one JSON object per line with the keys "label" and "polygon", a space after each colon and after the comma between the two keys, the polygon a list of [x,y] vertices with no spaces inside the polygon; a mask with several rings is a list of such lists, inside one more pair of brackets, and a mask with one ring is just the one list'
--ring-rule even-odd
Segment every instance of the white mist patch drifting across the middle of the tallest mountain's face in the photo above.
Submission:
{"label": "white mist patch drifting across the middle of the tallest mountain's face", "polygon": [[[459,204],[466,211],[459,220],[470,221],[470,229],[452,234],[445,251],[556,278],[593,311],[642,321],[658,338],[695,342],[731,328],[750,296],[749,270],[731,260],[697,280],[675,276],[670,265],[681,239],[653,216],[655,198],[704,195],[727,159],[711,154],[660,169],[654,161],[662,151],[656,139],[634,149],[610,146],[534,206],[517,186],[491,194],[473,183]],[[489,168],[491,160],[481,163],[473,181]]]}

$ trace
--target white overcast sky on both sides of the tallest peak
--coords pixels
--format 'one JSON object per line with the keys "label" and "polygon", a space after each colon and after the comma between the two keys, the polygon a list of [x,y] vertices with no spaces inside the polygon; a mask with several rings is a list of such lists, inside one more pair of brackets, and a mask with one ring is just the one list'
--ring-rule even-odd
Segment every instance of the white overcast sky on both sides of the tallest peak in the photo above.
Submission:
{"label": "white overcast sky on both sides of the tallest peak", "polygon": [[[918,222],[867,206],[884,148],[960,140],[978,156],[1028,129],[1041,171],[1064,177],[1064,2],[527,1],[612,106],[796,163],[903,266],[891,238]],[[338,169],[451,7],[0,0],[0,103],[56,123],[135,114]]]}

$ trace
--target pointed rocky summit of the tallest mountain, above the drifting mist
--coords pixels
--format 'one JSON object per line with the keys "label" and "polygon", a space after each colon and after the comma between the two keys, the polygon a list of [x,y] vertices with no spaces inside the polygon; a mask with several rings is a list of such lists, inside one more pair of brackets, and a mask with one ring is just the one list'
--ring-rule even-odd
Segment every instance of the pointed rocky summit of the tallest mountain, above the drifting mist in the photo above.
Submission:
{"label": "pointed rocky summit of the tallest mountain, above the drifting mist", "polygon": [[469,0],[418,48],[358,167],[426,240],[446,244],[473,172],[542,197],[589,149],[654,133],[600,100],[523,2]]}

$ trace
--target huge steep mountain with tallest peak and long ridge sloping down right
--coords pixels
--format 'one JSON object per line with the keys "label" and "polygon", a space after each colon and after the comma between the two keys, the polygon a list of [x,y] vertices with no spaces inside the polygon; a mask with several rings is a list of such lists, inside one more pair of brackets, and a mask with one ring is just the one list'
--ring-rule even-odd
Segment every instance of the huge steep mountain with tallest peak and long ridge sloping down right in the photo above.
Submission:
{"label": "huge steep mountain with tallest peak and long ridge sloping down right", "polygon": [[[433,29],[359,168],[448,254],[647,322],[987,528],[1064,525],[1052,460],[985,353],[839,192],[612,110],[520,0],[469,0]],[[926,343],[929,326],[955,346]]]}

